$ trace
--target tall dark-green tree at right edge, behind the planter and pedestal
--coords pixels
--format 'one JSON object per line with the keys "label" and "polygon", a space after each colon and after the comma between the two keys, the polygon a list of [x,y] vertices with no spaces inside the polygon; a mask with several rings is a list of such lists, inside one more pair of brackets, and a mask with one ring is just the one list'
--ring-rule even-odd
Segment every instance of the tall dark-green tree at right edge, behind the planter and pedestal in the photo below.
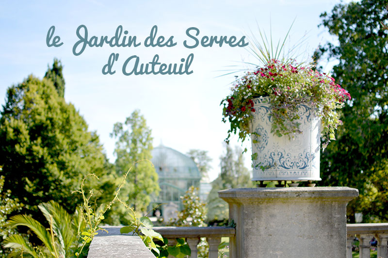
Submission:
{"label": "tall dark-green tree at right edge, behind the planter and pedestal", "polygon": [[[352,96],[342,109],[343,126],[337,132],[337,141],[321,153],[321,184],[359,190],[360,198],[348,205],[351,222],[355,221],[355,212],[387,221],[371,209],[373,204],[365,197],[370,195],[373,181],[385,180],[376,180],[386,174],[379,171],[387,171],[388,37],[381,24],[388,18],[387,4],[387,0],[340,3],[330,15],[321,15],[323,26],[337,36],[339,44],[327,43],[320,51],[339,61],[333,77]],[[387,197],[379,201],[388,205]]]}

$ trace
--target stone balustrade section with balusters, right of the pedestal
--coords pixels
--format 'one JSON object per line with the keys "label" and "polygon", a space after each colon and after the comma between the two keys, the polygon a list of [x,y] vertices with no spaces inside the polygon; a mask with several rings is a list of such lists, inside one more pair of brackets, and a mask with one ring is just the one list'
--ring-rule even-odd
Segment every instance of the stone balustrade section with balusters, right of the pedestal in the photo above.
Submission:
{"label": "stone balustrade section with balusters, right of the pedestal", "polygon": [[347,258],[352,258],[352,242],[355,236],[359,240],[360,258],[370,258],[370,241],[377,240],[377,257],[388,258],[388,223],[348,224]]}

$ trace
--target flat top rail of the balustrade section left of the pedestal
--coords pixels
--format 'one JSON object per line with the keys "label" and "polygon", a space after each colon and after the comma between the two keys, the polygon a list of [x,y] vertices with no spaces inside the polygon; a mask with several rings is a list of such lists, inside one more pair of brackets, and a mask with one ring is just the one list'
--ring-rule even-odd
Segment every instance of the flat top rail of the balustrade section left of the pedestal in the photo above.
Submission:
{"label": "flat top rail of the balustrade section left of the pedestal", "polygon": [[236,229],[224,226],[154,226],[165,238],[234,237]]}

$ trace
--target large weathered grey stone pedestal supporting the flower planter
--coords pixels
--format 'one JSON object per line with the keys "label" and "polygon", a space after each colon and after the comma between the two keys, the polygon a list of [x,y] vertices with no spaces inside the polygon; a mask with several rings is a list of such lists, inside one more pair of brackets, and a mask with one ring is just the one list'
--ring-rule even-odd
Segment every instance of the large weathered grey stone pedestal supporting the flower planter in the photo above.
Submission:
{"label": "large weathered grey stone pedestal supporting the flower planter", "polygon": [[242,188],[218,192],[236,223],[230,258],[346,258],[348,187]]}

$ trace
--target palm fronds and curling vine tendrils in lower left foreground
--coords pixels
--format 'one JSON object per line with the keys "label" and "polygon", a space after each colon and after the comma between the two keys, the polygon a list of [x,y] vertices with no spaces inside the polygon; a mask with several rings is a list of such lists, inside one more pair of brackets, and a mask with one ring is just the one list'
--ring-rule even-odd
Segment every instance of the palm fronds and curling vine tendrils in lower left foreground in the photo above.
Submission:
{"label": "palm fronds and curling vine tendrils in lower left foreground", "polygon": [[[142,232],[145,236],[148,236],[148,239],[142,237],[144,242],[150,248],[155,247],[155,245],[151,245],[151,243],[153,243],[152,239],[157,238],[162,240],[162,237],[160,234],[149,229],[149,227],[152,227],[151,221],[144,217],[141,218],[139,222],[136,218],[136,213],[134,210],[119,198],[121,188],[126,183],[126,178],[132,168],[133,166],[131,166],[129,170],[123,175],[121,184],[117,187],[113,199],[108,204],[102,205],[97,210],[94,210],[93,206],[91,205],[91,199],[94,195],[93,190],[90,190],[87,196],[85,194],[84,187],[86,184],[86,179],[89,177],[97,178],[98,180],[96,175],[89,174],[83,178],[81,182],[81,189],[75,191],[81,194],[83,200],[82,208],[77,208],[75,214],[70,215],[63,207],[54,201],[40,204],[38,206],[49,224],[49,229],[46,229],[42,224],[40,224],[29,215],[16,215],[11,217],[11,219],[8,221],[8,226],[29,227],[43,243],[43,245],[34,245],[33,243],[24,239],[21,235],[14,234],[4,241],[4,247],[13,248],[11,257],[19,257],[21,253],[23,253],[24,257],[29,257],[28,255],[31,255],[31,257],[34,258],[86,257],[88,253],[88,247],[94,236],[98,234],[99,230],[106,231],[99,225],[104,220],[104,214],[106,214],[106,212],[111,209],[115,202],[120,202],[129,209],[129,214],[133,218],[133,221],[130,226],[127,227],[136,229],[135,231],[138,235],[140,235],[140,232]],[[140,225],[146,227],[139,230]]]}

